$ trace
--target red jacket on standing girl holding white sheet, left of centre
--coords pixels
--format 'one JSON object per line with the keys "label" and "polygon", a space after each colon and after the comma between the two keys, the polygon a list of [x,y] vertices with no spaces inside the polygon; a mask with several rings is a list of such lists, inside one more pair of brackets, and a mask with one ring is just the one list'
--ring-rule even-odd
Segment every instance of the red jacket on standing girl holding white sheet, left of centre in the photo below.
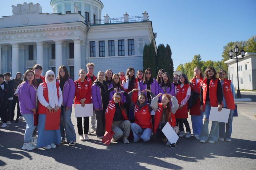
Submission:
{"label": "red jacket on standing girl holding white sheet, left of centre", "polygon": [[80,78],[74,82],[75,84],[75,100],[74,104],[81,104],[80,100],[86,98],[85,104],[91,103],[91,83],[86,79],[82,83]]}

